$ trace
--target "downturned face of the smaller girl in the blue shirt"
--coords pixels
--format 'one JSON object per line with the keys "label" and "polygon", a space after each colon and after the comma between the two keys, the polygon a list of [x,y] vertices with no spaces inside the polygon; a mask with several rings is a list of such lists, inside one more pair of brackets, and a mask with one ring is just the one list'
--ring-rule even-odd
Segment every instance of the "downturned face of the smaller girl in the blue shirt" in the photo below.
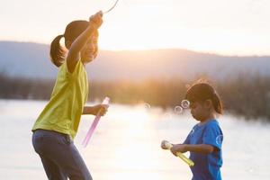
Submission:
{"label": "downturned face of the smaller girl in the blue shirt", "polygon": [[190,110],[193,118],[197,121],[204,121],[209,112],[208,108],[205,106],[205,103],[199,102],[190,102]]}

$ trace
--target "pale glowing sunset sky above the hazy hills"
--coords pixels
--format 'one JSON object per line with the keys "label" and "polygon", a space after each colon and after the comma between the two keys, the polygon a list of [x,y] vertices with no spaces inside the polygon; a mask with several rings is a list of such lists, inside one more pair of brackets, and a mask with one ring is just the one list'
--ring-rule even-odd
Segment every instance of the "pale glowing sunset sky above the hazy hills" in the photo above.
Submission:
{"label": "pale glowing sunset sky above the hazy hills", "polygon": [[[49,44],[67,23],[115,0],[1,0],[0,40]],[[270,55],[270,1],[119,0],[103,17],[100,49],[192,49]]]}

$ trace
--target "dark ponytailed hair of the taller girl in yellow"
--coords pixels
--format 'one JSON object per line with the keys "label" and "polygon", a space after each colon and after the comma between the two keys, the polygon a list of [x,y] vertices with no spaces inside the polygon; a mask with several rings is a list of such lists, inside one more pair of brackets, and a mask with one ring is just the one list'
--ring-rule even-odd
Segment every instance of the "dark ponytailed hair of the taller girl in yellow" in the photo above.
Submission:
{"label": "dark ponytailed hair of the taller girl in yellow", "polygon": [[76,38],[86,30],[89,22],[87,21],[74,21],[67,24],[65,33],[63,35],[58,35],[50,43],[50,59],[52,63],[59,67],[63,64],[67,50],[60,45],[61,38],[65,38],[65,46],[67,47],[67,40],[73,42]]}

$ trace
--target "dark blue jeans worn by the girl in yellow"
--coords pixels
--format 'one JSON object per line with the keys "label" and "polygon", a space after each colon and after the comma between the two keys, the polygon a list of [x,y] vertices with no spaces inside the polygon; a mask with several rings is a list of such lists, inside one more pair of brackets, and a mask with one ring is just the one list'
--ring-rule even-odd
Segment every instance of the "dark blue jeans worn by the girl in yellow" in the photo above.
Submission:
{"label": "dark blue jeans worn by the girl in yellow", "polygon": [[92,180],[83,158],[67,134],[35,130],[32,145],[40,155],[49,180]]}

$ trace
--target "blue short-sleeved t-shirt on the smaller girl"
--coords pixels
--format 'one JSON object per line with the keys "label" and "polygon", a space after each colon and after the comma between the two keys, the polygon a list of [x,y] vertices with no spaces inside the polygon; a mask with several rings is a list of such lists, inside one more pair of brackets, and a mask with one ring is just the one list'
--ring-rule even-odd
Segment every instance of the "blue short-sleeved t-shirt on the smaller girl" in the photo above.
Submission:
{"label": "blue short-sleeved t-shirt on the smaller girl", "polygon": [[220,167],[222,166],[221,145],[223,133],[219,122],[211,120],[205,124],[196,124],[184,140],[184,144],[208,144],[215,148],[212,153],[202,154],[190,152],[193,180],[221,180]]}

